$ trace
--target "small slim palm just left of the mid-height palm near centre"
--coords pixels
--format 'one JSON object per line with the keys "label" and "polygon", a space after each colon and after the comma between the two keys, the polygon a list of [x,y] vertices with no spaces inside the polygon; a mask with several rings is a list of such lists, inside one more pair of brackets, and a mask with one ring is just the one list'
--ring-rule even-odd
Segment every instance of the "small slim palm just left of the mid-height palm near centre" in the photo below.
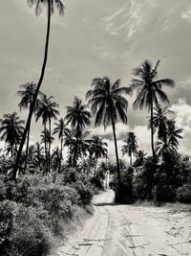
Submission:
{"label": "small slim palm just left of the mid-height palm near centre", "polygon": [[[62,151],[63,151],[63,142],[64,142],[64,137],[67,137],[70,129],[66,127],[64,123],[64,119],[60,118],[57,123],[54,123],[55,128],[53,129],[53,134],[58,134],[58,139],[60,140],[60,153],[61,153],[61,158],[60,158],[60,164],[61,164],[61,159],[62,157]],[[60,167],[59,167],[60,169]]]}

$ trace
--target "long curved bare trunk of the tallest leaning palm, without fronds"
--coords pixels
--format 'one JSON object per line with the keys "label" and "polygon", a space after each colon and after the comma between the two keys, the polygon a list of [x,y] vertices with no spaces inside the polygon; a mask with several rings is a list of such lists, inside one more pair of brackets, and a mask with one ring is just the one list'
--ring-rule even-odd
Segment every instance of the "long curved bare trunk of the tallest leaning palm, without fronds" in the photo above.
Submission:
{"label": "long curved bare trunk of the tallest leaning palm, without fronds", "polygon": [[14,164],[14,168],[13,168],[13,172],[12,172],[12,179],[13,180],[16,179],[18,165],[19,165],[19,162],[20,162],[21,153],[23,151],[23,146],[24,146],[24,143],[25,143],[25,140],[26,140],[27,132],[29,131],[29,129],[31,127],[32,113],[33,113],[33,110],[34,110],[34,105],[35,105],[35,102],[36,102],[36,99],[37,99],[37,96],[38,96],[38,92],[39,92],[41,83],[42,83],[42,81],[44,79],[44,75],[45,75],[45,69],[46,69],[47,58],[48,58],[48,50],[49,50],[50,29],[51,29],[51,0],[48,1],[47,35],[46,35],[45,53],[44,53],[44,60],[43,60],[43,65],[42,65],[42,69],[41,69],[41,75],[40,75],[40,79],[37,83],[36,90],[35,90],[34,95],[33,95],[32,105],[30,106],[30,112],[29,112],[27,124],[26,124],[26,127],[25,127],[24,132],[23,132],[23,136],[22,136],[22,139],[21,139],[21,143],[20,143],[20,146],[19,146],[18,153],[17,153],[16,161],[15,161],[15,164]]}

